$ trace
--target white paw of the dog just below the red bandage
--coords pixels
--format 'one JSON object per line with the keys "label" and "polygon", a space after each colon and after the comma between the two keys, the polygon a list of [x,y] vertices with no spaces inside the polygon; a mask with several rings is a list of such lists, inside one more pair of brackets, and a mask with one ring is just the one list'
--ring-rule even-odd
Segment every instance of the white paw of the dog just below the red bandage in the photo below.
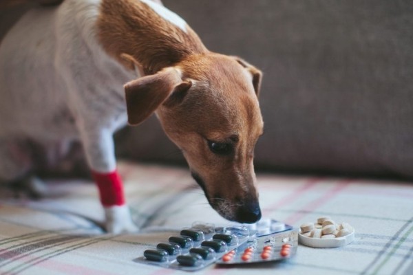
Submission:
{"label": "white paw of the dog just below the red bandage", "polygon": [[105,218],[105,228],[108,233],[120,234],[138,231],[127,205],[105,207]]}

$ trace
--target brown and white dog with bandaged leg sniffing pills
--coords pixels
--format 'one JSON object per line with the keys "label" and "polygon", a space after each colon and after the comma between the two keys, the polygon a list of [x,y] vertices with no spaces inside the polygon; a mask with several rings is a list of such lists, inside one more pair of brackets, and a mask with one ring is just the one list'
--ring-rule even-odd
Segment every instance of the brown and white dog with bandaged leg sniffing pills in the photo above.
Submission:
{"label": "brown and white dog with bandaged leg sniffing pills", "polygon": [[67,153],[80,140],[106,230],[136,230],[113,133],[156,113],[222,217],[261,218],[253,166],[262,72],[210,52],[160,1],[65,0],[30,10],[0,45],[0,180],[28,175],[28,140]]}

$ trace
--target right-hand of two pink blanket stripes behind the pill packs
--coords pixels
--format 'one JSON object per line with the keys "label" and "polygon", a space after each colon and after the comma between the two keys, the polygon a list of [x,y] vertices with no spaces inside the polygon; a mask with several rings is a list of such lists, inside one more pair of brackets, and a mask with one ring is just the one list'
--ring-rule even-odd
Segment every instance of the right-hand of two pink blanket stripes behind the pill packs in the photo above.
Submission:
{"label": "right-hand of two pink blanket stripes behind the pill packs", "polygon": [[288,217],[284,222],[288,224],[294,224],[295,222],[299,221],[299,219],[308,214],[308,212],[315,210],[319,206],[322,206],[324,203],[326,203],[329,199],[332,199],[332,197],[335,197],[335,195],[339,194],[339,192],[346,188],[350,183],[350,180],[339,182],[337,186],[326,192],[324,196],[321,196],[318,199],[315,199],[314,201],[306,204],[306,206],[302,207],[301,210],[290,215],[290,217]]}

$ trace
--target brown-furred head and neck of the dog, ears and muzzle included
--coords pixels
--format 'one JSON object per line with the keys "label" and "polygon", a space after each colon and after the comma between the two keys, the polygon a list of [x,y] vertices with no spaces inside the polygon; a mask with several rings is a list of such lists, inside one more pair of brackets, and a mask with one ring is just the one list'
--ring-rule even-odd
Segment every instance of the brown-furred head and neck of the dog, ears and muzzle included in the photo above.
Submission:
{"label": "brown-furred head and neck of the dog, ears and muzzle included", "polygon": [[[147,75],[125,85],[129,123],[156,111],[211,206],[226,219],[260,219],[253,150],[263,128],[261,72],[209,52],[191,28],[184,32],[140,1],[103,1],[98,30],[109,54]],[[213,153],[211,142],[231,152]]]}

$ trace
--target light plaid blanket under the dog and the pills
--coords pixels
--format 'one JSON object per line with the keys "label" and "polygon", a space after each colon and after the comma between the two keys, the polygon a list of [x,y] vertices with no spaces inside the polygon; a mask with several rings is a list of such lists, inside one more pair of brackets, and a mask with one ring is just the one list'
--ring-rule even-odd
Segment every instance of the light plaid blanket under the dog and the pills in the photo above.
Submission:
{"label": "light plaid blanket under the dog and the pills", "polygon": [[[136,234],[105,234],[94,184],[47,181],[50,195],[32,200],[0,188],[1,274],[187,274],[135,263],[193,221],[226,223],[182,168],[121,162]],[[401,181],[257,176],[264,217],[299,226],[328,215],[356,230],[341,248],[300,245],[286,261],[216,267],[197,274],[413,274],[413,184]]]}

